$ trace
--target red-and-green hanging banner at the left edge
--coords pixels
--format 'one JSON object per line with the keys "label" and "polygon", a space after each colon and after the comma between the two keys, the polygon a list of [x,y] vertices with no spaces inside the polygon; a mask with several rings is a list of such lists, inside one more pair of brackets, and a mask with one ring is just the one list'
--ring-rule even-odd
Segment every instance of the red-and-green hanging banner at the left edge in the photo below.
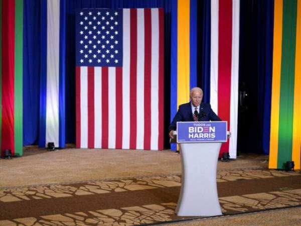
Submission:
{"label": "red-and-green hanging banner at the left edge", "polygon": [[23,155],[23,0],[0,1],[0,146]]}

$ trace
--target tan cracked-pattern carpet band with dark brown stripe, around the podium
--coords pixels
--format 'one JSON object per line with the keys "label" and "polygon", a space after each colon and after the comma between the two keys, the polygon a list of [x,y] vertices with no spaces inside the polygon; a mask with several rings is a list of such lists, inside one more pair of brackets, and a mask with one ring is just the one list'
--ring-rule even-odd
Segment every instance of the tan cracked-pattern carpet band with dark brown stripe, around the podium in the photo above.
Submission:
{"label": "tan cracked-pattern carpet band with dark brown stripe, around the podium", "polygon": [[[223,214],[301,204],[301,174],[219,171]],[[175,214],[180,175],[0,188],[0,226],[141,225],[193,217]]]}

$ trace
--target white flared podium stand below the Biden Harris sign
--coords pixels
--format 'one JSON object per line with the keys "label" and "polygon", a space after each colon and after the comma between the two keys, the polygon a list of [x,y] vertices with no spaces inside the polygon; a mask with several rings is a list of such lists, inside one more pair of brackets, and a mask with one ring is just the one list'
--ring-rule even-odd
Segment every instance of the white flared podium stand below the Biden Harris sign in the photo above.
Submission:
{"label": "white flared podium stand below the Biden Harris sign", "polygon": [[[171,141],[173,142],[174,139]],[[216,169],[222,142],[179,143],[182,162],[178,216],[221,215]]]}

